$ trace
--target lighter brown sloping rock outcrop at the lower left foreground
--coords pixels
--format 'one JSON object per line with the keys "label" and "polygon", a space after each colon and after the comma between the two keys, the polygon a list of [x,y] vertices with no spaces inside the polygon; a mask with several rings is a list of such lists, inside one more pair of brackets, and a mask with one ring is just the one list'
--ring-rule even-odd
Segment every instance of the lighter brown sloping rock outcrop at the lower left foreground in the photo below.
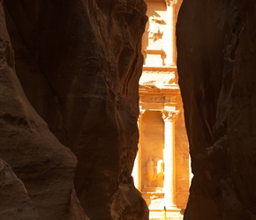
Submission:
{"label": "lighter brown sloping rock outcrop at the lower left foreground", "polygon": [[0,17],[0,157],[9,164],[1,160],[1,220],[86,219],[72,194],[77,158],[49,131],[19,84],[2,1]]}

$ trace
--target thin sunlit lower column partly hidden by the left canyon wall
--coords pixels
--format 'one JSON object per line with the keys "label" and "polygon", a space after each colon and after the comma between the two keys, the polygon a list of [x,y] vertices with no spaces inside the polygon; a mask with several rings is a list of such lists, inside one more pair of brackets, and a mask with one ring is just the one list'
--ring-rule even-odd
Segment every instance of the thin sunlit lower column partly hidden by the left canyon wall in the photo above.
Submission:
{"label": "thin sunlit lower column partly hidden by the left canyon wall", "polygon": [[138,128],[139,128],[139,143],[138,143],[138,152],[134,161],[133,169],[132,169],[132,177],[134,180],[134,186],[141,191],[141,140],[140,140],[140,134],[141,134],[141,117],[142,114],[145,113],[145,110],[139,111],[139,117],[138,117]]}

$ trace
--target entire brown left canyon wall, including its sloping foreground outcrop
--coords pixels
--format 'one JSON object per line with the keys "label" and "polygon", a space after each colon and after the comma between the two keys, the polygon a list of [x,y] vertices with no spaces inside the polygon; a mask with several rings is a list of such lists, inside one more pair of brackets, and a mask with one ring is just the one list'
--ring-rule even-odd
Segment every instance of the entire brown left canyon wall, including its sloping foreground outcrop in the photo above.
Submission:
{"label": "entire brown left canyon wall, including its sloping foreground outcrop", "polygon": [[131,177],[144,1],[0,3],[1,219],[147,219]]}

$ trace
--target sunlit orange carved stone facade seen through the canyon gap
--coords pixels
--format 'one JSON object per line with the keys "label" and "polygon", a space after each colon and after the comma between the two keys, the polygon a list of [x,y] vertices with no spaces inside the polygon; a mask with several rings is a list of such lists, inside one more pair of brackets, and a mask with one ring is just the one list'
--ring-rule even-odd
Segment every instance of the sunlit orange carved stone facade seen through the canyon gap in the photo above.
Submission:
{"label": "sunlit orange carved stone facade seen through the canyon gap", "polygon": [[181,1],[147,0],[145,62],[139,80],[139,151],[135,186],[150,219],[183,219],[190,186],[188,141],[177,84],[175,25]]}

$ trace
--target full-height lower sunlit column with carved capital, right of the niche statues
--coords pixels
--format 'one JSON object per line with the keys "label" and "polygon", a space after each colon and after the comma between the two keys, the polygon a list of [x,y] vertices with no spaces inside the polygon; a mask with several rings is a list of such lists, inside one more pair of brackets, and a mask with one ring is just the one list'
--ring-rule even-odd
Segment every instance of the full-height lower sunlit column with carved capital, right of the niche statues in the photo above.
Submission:
{"label": "full-height lower sunlit column with carved capital, right of the niche statues", "polygon": [[175,177],[175,127],[174,120],[178,111],[162,112],[164,121],[164,205],[167,209],[176,206],[176,177]]}

